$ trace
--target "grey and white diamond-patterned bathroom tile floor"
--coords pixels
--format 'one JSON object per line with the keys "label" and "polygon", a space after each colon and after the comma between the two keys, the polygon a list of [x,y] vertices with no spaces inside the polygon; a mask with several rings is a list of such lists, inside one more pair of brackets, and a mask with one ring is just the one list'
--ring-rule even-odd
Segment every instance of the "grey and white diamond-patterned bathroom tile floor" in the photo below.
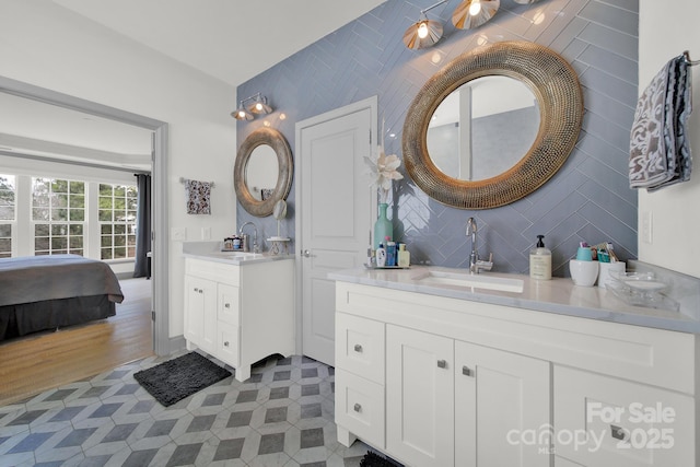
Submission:
{"label": "grey and white diamond-patterned bathroom tile floor", "polygon": [[0,466],[355,467],[368,451],[336,441],[332,367],[271,357],[244,383],[228,377],[165,408],[133,380],[164,360],[0,407]]}

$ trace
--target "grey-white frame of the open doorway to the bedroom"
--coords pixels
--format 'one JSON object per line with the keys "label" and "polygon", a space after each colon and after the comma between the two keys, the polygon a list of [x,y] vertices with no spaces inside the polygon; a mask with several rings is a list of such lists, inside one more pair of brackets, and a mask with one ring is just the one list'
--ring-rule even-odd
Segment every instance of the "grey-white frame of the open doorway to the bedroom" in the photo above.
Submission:
{"label": "grey-white frame of the open doorway to the bedroom", "polygon": [[97,104],[72,95],[63,94],[46,87],[35,86],[22,81],[0,77],[0,92],[20,97],[56,105],[72,110],[95,115],[102,118],[120,121],[135,127],[153,131],[153,166],[151,167],[152,212],[151,238],[153,242],[153,257],[151,259],[153,277],[153,303],[156,319],[153,323],[153,350],[159,355],[171,353],[170,343],[170,306],[168,306],[168,244],[166,209],[167,199],[167,132],[168,126],[164,121],[155,120],[142,115],[132,114],[119,108]]}

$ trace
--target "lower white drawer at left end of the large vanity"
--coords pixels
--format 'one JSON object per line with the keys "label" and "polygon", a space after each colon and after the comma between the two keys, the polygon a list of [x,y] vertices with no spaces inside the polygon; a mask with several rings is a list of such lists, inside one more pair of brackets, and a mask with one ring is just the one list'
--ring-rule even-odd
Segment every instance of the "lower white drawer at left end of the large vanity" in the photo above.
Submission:
{"label": "lower white drawer at left end of the large vanity", "polygon": [[336,423],[384,448],[384,386],[336,370]]}

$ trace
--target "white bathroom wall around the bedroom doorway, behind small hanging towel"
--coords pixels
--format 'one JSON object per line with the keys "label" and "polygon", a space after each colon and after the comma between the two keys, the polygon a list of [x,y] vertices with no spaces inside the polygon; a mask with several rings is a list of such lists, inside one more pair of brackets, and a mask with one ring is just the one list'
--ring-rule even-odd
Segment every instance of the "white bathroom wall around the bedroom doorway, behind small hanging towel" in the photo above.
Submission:
{"label": "white bathroom wall around the bedroom doorway, behind small hanging towel", "polygon": [[[50,0],[0,2],[0,75],[166,121],[171,225],[165,229],[186,227],[187,240],[200,240],[202,227],[211,227],[212,238],[223,238],[235,229],[236,132],[230,117],[235,87]],[[215,182],[212,215],[185,213],[180,176]],[[171,242],[171,337],[183,334],[180,250],[179,242]]]}

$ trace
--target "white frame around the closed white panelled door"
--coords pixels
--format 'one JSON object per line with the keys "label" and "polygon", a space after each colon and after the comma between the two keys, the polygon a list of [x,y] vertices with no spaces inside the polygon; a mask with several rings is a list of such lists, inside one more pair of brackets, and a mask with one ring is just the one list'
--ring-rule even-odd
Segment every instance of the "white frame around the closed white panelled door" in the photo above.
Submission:
{"label": "white frame around the closed white panelled door", "polygon": [[[378,96],[373,95],[371,97],[364,98],[362,101],[354,102],[352,104],[348,104],[346,106],[335,108],[332,110],[328,110],[326,113],[316,115],[314,117],[306,118],[305,120],[300,120],[296,122],[294,127],[294,154],[296,157],[294,160],[294,200],[296,207],[300,208],[302,206],[302,184],[304,180],[302,179],[302,130],[308,127],[313,127],[315,125],[322,124],[324,121],[332,120],[336,118],[345,117],[346,115],[354,114],[355,112],[363,110],[365,108],[370,109],[372,122],[370,124],[370,144],[375,147],[377,144],[377,112],[378,112]],[[376,212],[376,196],[372,197],[372,206],[370,207],[370,212],[368,215],[370,220],[373,219],[372,213]],[[302,276],[302,250],[304,245],[301,245],[302,238],[302,224],[301,224],[301,215],[295,215],[294,222],[294,238],[296,238],[298,243],[294,245],[296,252],[294,252],[294,257],[296,258],[295,262],[295,292],[296,292],[296,303],[294,306],[294,336],[295,336],[295,350],[294,352],[298,355],[302,354],[302,343],[303,343],[303,310],[304,310],[304,301],[303,301],[303,287],[304,287],[304,278]]]}

